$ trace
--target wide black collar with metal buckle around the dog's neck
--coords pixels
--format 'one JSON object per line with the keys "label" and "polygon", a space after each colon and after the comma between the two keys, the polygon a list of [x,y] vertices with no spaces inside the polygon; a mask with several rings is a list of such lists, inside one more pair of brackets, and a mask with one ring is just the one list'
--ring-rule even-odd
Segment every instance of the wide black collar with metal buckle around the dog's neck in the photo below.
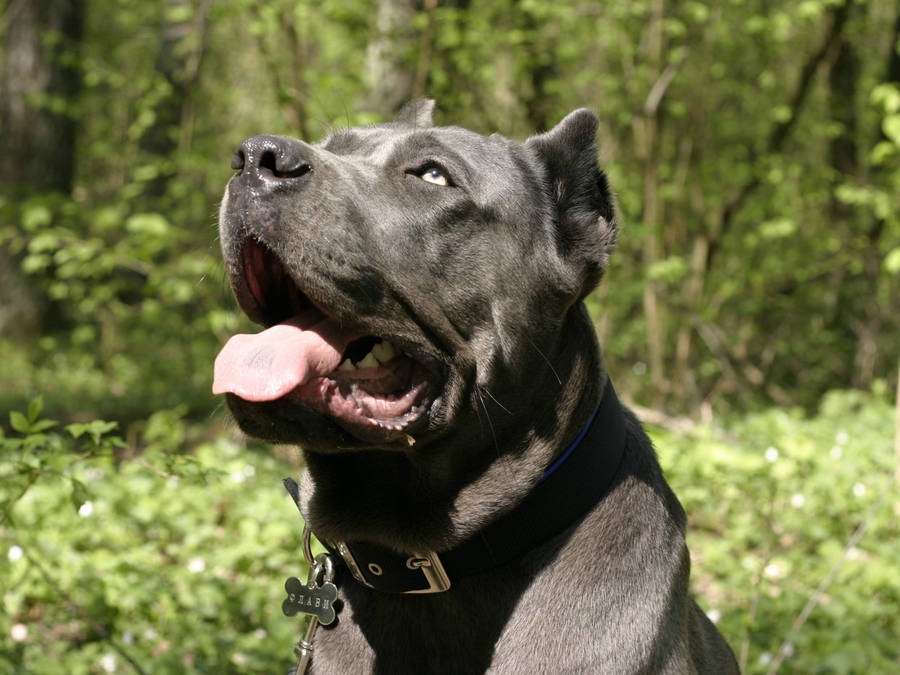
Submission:
{"label": "wide black collar with metal buckle around the dog's neck", "polygon": [[[445,591],[452,580],[499,567],[573,525],[607,493],[624,450],[624,415],[607,380],[585,428],[522,503],[455,548],[415,555],[362,541],[339,542],[333,548],[353,577],[375,590]],[[297,484],[289,478],[284,482],[298,501]]]}

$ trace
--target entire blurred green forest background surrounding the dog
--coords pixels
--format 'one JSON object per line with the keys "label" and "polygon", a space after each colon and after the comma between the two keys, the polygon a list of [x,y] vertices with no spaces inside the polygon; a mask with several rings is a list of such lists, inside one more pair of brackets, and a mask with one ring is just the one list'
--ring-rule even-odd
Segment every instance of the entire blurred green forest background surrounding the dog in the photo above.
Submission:
{"label": "entire blurred green forest background surrounding the dog", "polygon": [[243,138],[422,96],[519,139],[598,112],[623,230],[588,304],[701,606],[745,672],[900,670],[896,0],[0,8],[0,671],[292,663],[301,461],[209,392],[254,330],[218,201]]}

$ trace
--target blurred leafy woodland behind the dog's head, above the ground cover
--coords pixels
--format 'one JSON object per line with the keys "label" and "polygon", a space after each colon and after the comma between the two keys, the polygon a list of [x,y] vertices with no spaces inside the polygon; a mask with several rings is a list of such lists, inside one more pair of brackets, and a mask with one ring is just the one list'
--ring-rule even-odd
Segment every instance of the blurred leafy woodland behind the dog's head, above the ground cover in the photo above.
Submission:
{"label": "blurred leafy woodland behind the dog's head, above the ground cover", "polygon": [[[74,401],[117,418],[207,412],[210,354],[239,327],[214,230],[230,153],[256,133],[312,139],[389,117],[373,93],[400,85],[375,79],[373,45],[401,4],[87,3],[72,193],[0,202],[0,245],[50,301],[41,339],[0,341],[15,366],[0,405],[43,393],[54,414]],[[614,301],[591,305],[613,370],[643,368],[653,343],[662,356],[623,391],[683,411],[707,398],[813,409],[829,388],[889,377],[893,3],[665,3],[658,35],[655,7],[424,3],[383,60],[410,75],[407,96],[438,100],[439,122],[523,137],[598,111],[623,232]],[[829,81],[834,49],[811,60],[844,7],[846,91]],[[838,141],[852,143],[843,164]]]}

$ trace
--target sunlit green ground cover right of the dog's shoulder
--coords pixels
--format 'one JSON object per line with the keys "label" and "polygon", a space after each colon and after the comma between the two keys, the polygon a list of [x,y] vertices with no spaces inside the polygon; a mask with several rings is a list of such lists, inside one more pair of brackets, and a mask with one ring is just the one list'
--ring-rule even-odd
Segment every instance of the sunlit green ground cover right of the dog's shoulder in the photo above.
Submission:
{"label": "sunlit green ground cover right of the dog's shoulder", "polygon": [[652,434],[688,513],[695,592],[744,672],[769,672],[785,643],[779,672],[896,670],[893,424],[881,395],[841,391],[813,418],[772,409],[724,430]]}

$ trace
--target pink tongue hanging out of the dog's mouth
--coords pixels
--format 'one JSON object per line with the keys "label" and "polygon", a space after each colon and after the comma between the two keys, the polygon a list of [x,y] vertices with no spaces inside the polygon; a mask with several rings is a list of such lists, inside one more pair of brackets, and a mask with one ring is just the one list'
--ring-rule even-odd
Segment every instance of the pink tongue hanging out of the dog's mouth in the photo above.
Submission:
{"label": "pink tongue hanging out of the dog's mouth", "polygon": [[274,401],[332,372],[356,337],[315,310],[256,335],[234,335],[216,357],[213,393]]}

